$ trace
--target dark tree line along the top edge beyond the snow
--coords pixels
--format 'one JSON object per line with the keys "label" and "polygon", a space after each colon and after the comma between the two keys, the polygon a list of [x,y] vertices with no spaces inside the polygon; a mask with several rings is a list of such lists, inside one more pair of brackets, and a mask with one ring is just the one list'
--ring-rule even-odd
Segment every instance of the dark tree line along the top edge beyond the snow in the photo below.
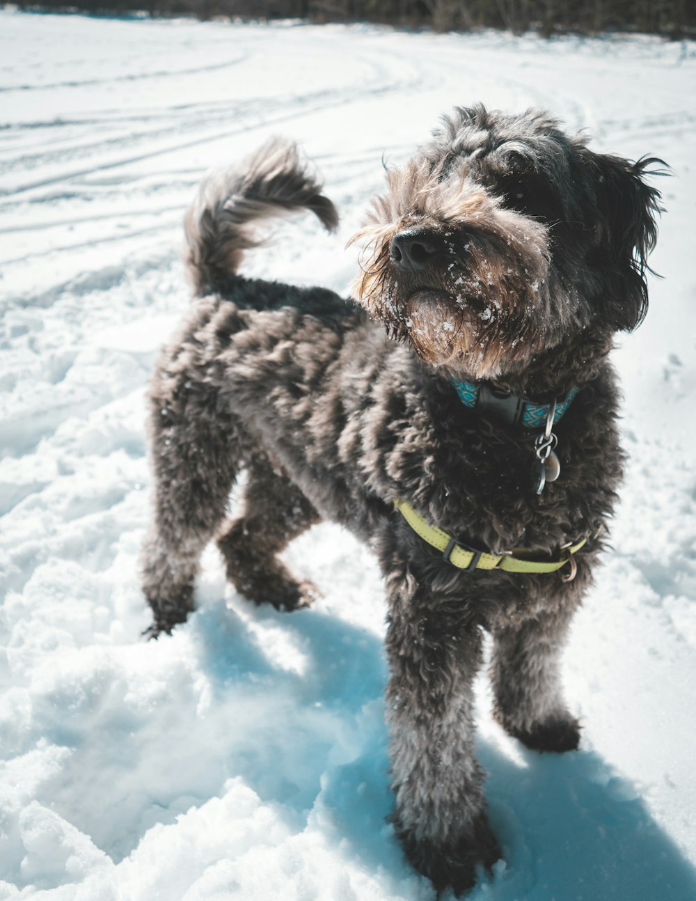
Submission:
{"label": "dark tree line along the top edge beyond the snow", "polygon": [[41,0],[23,8],[312,22],[388,23],[437,31],[502,28],[592,34],[608,30],[696,36],[696,0]]}

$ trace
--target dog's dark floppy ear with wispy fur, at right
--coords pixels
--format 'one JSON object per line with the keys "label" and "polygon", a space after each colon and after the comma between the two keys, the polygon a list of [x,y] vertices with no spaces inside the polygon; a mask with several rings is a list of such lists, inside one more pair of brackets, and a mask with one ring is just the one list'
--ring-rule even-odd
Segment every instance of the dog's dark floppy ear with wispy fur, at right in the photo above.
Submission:
{"label": "dog's dark floppy ear with wispy fur, at right", "polygon": [[[647,257],[657,240],[660,192],[645,176],[666,175],[666,163],[643,157],[632,163],[609,154],[585,151],[592,167],[596,196],[596,271],[601,279],[595,306],[614,331],[630,332],[647,313]],[[653,166],[661,168],[651,168]]]}

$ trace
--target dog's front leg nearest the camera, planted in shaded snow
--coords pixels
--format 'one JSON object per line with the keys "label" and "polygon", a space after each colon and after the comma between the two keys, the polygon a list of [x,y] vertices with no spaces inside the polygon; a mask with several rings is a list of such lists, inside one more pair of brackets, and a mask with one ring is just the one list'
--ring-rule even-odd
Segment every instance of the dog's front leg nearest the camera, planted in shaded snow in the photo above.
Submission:
{"label": "dog's front leg nearest the camera, planted in shaded snow", "polygon": [[474,885],[477,864],[500,857],[474,756],[481,634],[461,603],[398,581],[386,642],[393,822],[413,867],[459,894]]}

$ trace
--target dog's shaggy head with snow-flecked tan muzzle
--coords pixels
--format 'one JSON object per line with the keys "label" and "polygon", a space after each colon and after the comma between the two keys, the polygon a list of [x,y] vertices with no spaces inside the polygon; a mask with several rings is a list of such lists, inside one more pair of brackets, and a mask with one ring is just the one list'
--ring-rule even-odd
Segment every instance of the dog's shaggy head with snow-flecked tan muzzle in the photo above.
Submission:
{"label": "dog's shaggy head with snow-flecked tan muzzle", "polygon": [[[393,337],[457,376],[498,378],[588,327],[646,312],[659,194],[646,166],[555,119],[457,108],[375,198],[356,294]],[[355,239],[354,239],[355,240]]]}

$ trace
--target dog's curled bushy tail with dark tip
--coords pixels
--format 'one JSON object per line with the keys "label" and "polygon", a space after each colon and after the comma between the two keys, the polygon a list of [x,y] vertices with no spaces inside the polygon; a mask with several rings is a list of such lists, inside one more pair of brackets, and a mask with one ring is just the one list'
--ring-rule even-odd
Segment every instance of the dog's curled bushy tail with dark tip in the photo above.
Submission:
{"label": "dog's curled bushy tail with dark tip", "polygon": [[244,251],[262,243],[256,223],[301,209],[330,232],[339,223],[292,141],[272,138],[240,166],[204,180],[185,216],[185,262],[195,293],[210,294],[235,276]]}

